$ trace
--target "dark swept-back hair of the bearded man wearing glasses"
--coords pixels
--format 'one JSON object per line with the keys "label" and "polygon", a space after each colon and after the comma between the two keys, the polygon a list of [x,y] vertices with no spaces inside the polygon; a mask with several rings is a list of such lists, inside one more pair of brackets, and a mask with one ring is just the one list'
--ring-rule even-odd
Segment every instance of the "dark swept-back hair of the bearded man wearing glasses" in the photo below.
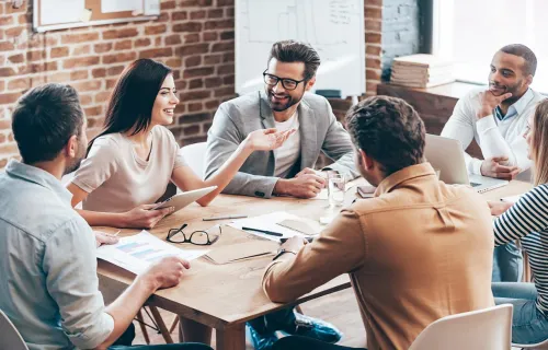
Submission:
{"label": "dark swept-back hair of the bearded man wearing glasses", "polygon": [[309,45],[295,40],[283,40],[272,45],[271,59],[277,59],[281,62],[302,62],[305,63],[305,79],[310,80],[316,75],[318,67],[320,67],[320,56]]}

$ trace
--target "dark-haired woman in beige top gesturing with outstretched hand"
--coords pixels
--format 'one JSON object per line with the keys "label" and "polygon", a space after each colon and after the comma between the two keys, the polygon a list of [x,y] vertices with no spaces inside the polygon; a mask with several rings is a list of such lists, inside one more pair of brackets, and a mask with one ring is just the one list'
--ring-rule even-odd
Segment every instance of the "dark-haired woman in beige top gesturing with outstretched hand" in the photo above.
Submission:
{"label": "dark-haired woman in beige top gesturing with outstretched hand", "polygon": [[172,180],[182,190],[217,189],[197,200],[207,206],[231,180],[253,151],[273,150],[295,130],[256,130],[242,136],[240,147],[217,173],[204,180],[178,152],[164,126],[179,103],[170,68],[139,59],[122,73],[111,95],[104,128],[89,145],[88,156],[68,189],[72,206],[90,225],[152,228],[172,209],[150,210]]}

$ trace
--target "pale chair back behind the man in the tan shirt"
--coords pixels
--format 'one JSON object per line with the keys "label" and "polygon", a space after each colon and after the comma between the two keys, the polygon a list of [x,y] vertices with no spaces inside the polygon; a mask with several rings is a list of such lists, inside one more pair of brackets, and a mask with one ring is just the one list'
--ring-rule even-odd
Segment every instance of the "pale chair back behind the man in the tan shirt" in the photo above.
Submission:
{"label": "pale chair back behind the man in the tan shirt", "polygon": [[510,350],[513,305],[450,315],[427,326],[409,350]]}

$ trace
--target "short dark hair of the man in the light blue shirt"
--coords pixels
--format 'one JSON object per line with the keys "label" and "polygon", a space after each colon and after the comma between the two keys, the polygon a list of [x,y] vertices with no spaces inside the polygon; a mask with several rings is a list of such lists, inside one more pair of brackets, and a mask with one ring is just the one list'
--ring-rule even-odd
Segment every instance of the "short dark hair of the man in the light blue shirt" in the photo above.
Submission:
{"label": "short dark hair of the man in the light blue shirt", "polygon": [[12,129],[23,162],[54,160],[69,139],[81,137],[83,112],[70,85],[49,83],[21,96],[12,115]]}

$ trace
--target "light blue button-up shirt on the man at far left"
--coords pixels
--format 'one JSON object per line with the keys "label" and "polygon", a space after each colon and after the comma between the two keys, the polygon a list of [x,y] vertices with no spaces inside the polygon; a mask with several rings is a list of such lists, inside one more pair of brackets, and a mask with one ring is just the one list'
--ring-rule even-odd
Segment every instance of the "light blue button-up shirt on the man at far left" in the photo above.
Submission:
{"label": "light blue button-up shirt on the man at far left", "polygon": [[101,345],[114,328],[99,292],[95,240],[52,174],[0,173],[0,308],[30,349]]}

